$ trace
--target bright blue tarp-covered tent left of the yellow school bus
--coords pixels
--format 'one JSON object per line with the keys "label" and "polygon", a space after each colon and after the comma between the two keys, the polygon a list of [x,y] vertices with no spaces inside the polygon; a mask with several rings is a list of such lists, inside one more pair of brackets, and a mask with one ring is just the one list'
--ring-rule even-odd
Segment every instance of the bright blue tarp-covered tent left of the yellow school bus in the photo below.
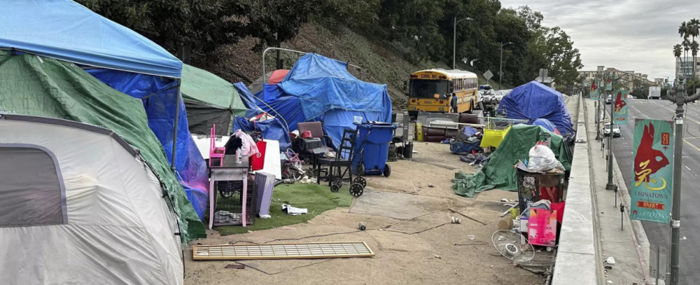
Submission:
{"label": "bright blue tarp-covered tent left of the yellow school bus", "polygon": [[266,112],[283,118],[289,130],[296,130],[297,123],[322,121],[324,132],[337,147],[343,130],[356,128],[355,116],[364,122],[391,122],[386,85],[360,81],[346,66],[332,58],[306,53],[284,80],[266,84],[254,99]]}

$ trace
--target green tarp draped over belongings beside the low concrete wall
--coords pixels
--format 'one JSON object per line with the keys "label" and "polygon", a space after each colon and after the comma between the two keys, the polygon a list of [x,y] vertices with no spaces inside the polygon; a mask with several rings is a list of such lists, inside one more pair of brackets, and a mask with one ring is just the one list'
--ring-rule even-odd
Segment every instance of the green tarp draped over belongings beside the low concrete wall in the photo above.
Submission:
{"label": "green tarp draped over belongings beside the low concrete wall", "polygon": [[452,190],[465,197],[474,197],[475,193],[494,188],[517,191],[518,177],[513,166],[518,160],[529,159],[529,151],[540,140],[540,133],[551,135],[551,150],[554,151],[556,159],[564,165],[566,171],[571,170],[571,152],[566,149],[566,142],[561,135],[551,133],[539,125],[519,124],[511,127],[501,145],[491,154],[479,172],[474,175],[455,173]]}

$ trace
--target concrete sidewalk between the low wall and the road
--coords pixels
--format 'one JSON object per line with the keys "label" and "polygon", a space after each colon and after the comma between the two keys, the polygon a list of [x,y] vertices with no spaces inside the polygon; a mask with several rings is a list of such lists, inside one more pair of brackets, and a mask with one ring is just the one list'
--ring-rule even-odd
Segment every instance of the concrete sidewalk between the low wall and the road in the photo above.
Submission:
{"label": "concrete sidewalk between the low wall and the road", "polygon": [[[586,107],[586,130],[589,145],[589,159],[591,167],[591,191],[594,196],[594,210],[597,213],[599,228],[598,238],[604,259],[614,257],[615,264],[605,264],[612,269],[606,270],[606,284],[648,284],[645,281],[646,260],[645,254],[649,252],[649,242],[643,233],[641,223],[633,224],[629,219],[628,211],[620,212],[620,203],[626,204],[629,209],[629,195],[622,181],[614,161],[614,183],[619,185],[619,197],[612,190],[606,190],[608,175],[606,170],[607,150],[601,150],[601,142],[596,140],[595,106],[591,100],[584,100]],[[616,139],[618,140],[618,139]],[[636,233],[634,229],[638,229]]]}

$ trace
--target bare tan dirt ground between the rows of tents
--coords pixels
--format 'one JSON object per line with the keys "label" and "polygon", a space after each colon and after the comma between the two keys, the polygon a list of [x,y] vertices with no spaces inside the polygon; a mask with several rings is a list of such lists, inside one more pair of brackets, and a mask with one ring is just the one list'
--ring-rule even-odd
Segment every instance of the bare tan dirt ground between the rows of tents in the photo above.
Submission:
{"label": "bare tan dirt ground between the rows of tents", "polygon": [[[210,230],[186,252],[185,284],[544,284],[491,244],[499,214],[508,208],[499,201],[517,199],[516,192],[489,190],[473,199],[454,195],[454,172],[476,169],[451,155],[448,145],[416,142],[414,150],[411,161],[389,162],[390,177],[368,177],[368,190],[352,207],[324,212],[306,224],[248,234],[222,237]],[[461,224],[450,224],[453,216]],[[359,222],[365,231],[359,231]],[[366,242],[376,255],[238,261],[245,269],[224,268],[236,261],[192,260],[194,244],[234,242]]]}

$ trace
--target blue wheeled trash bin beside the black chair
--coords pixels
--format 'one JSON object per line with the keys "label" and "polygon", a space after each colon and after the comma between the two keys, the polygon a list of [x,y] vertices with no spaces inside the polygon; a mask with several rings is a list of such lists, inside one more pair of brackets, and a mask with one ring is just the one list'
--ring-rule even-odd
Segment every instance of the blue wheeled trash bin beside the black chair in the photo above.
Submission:
{"label": "blue wheeled trash bin beside the black chair", "polygon": [[385,171],[389,167],[386,160],[389,158],[389,143],[394,138],[396,126],[389,123],[361,123],[357,128],[352,169],[357,172],[362,157],[364,175],[389,176],[391,170]]}

